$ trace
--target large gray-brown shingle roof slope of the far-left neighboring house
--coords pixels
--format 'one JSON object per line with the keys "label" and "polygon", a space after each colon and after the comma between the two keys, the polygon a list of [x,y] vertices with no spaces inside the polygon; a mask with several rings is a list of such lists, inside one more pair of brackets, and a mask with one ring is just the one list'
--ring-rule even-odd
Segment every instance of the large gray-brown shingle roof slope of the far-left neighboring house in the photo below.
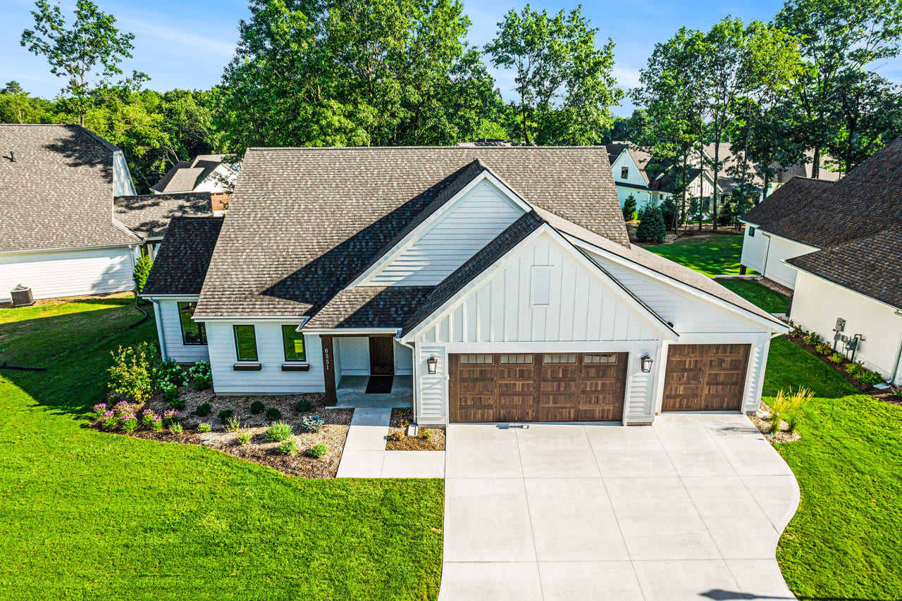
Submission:
{"label": "large gray-brown shingle roof slope of the far-left neighboring house", "polygon": [[117,151],[79,125],[0,125],[0,252],[137,242],[113,218]]}

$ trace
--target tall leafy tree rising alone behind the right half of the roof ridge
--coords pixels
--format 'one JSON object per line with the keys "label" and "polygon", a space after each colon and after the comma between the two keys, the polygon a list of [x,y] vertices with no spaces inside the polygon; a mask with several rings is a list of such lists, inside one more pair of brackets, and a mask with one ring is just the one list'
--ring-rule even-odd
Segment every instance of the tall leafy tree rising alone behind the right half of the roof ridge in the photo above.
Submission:
{"label": "tall leafy tree rising alone behind the right half of the roof ridge", "polygon": [[600,143],[613,122],[611,106],[623,97],[613,77],[609,38],[595,33],[577,6],[569,14],[511,10],[485,51],[492,65],[514,71],[524,143]]}

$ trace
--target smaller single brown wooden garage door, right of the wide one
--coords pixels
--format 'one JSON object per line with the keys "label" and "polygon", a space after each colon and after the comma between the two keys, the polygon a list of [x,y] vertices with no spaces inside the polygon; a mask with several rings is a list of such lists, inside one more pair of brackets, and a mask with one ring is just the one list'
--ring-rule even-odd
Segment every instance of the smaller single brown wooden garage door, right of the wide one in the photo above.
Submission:
{"label": "smaller single brown wooden garage door, right of the wide one", "polygon": [[663,411],[739,411],[750,345],[671,345]]}

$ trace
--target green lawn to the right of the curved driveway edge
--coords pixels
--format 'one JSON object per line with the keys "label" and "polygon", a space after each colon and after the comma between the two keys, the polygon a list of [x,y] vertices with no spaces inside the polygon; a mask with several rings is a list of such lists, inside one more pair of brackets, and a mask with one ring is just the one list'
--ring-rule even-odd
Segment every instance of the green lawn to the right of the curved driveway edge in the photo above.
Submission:
{"label": "green lawn to the right of the curved driveway edge", "polygon": [[808,599],[902,598],[902,407],[858,393],[783,337],[771,341],[765,402],[779,389],[815,392],[802,439],[777,445],[802,491],[777,559]]}

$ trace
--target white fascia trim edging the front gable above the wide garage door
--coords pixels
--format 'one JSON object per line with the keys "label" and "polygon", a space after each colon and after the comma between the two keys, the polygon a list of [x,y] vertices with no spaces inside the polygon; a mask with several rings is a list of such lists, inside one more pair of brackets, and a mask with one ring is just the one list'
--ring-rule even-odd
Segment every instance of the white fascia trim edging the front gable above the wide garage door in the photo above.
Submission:
{"label": "white fascia trim edging the front gable above the wide garage door", "polygon": [[651,326],[658,331],[660,331],[664,337],[669,340],[676,340],[679,336],[676,332],[669,328],[663,320],[655,314],[652,310],[649,309],[646,305],[642,304],[640,301],[637,301],[634,296],[632,296],[628,291],[623,288],[621,282],[618,282],[610,273],[607,273],[603,270],[602,266],[596,264],[589,257],[585,256],[585,254],[581,253],[575,245],[569,244],[569,242],[561,236],[560,232],[558,232],[554,227],[549,226],[547,223],[542,224],[542,226],[538,227],[534,232],[526,236],[520,243],[515,245],[511,250],[509,250],[499,261],[496,261],[492,266],[488,269],[484,270],[483,273],[479,273],[471,282],[468,282],[462,289],[457,291],[450,299],[442,303],[442,305],[427,318],[417,324],[416,328],[410,330],[407,336],[401,338],[401,342],[411,342],[415,340],[415,338],[422,332],[423,329],[428,328],[428,326],[432,323],[435,323],[437,319],[441,319],[445,316],[446,312],[450,310],[457,302],[462,301],[465,297],[469,296],[471,292],[475,290],[477,286],[482,285],[482,283],[492,276],[492,273],[495,273],[499,269],[507,266],[507,264],[511,263],[513,258],[519,253],[520,249],[529,245],[533,240],[535,240],[538,236],[542,236],[543,234],[548,234],[553,238],[556,238],[557,241],[563,246],[568,253],[570,253],[577,262],[583,264],[586,269],[590,271],[590,273],[595,273],[596,276],[607,283],[614,293],[620,297],[621,301],[629,304],[633,309],[638,310],[640,315],[644,315],[646,319],[649,321]]}

